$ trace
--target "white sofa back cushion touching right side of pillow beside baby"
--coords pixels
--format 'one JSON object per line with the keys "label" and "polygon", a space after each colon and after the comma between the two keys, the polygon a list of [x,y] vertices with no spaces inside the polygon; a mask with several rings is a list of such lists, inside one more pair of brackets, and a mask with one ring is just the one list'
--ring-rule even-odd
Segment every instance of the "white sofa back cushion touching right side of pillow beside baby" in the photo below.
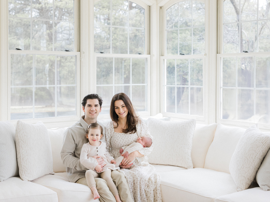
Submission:
{"label": "white sofa back cushion touching right side of pillow beside baby", "polygon": [[196,124],[193,136],[193,145],[191,158],[194,168],[203,168],[205,157],[209,146],[211,145],[217,124]]}

